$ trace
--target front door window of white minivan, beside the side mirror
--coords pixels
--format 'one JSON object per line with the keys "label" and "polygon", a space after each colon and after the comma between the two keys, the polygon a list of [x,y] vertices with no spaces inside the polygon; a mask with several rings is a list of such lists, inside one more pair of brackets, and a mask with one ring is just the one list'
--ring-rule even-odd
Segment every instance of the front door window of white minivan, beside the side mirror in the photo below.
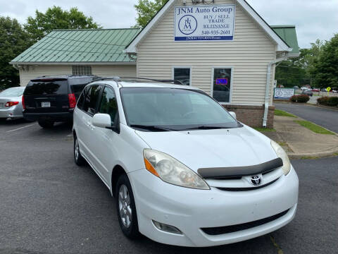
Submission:
{"label": "front door window of white minivan, beside the side mirror", "polygon": [[105,87],[104,92],[102,92],[99,113],[110,115],[111,123],[114,123],[118,118],[118,103],[116,102],[115,92],[109,87]]}

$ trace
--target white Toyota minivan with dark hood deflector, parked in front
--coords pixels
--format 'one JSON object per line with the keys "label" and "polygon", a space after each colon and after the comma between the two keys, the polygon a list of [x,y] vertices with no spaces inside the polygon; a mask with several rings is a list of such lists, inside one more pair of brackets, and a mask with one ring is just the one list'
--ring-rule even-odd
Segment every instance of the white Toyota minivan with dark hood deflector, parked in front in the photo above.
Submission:
{"label": "white Toyota minivan with dark hood deflector, parked in front", "polygon": [[299,181],[282,147],[187,85],[106,78],[74,111],[74,157],[115,196],[120,227],[217,246],[291,222]]}

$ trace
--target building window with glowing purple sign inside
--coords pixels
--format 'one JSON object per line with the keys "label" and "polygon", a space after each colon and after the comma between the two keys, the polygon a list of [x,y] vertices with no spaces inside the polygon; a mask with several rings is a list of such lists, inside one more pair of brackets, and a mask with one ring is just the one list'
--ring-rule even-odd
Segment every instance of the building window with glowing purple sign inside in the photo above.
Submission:
{"label": "building window with glowing purple sign inside", "polygon": [[213,98],[218,102],[230,102],[232,68],[213,68]]}

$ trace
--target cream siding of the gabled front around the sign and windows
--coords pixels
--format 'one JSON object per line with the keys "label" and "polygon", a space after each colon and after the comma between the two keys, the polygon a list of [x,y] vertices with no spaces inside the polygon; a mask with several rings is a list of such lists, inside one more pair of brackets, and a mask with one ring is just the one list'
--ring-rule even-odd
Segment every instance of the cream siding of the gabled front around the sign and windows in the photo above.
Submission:
{"label": "cream siding of the gabled front around the sign and windows", "polygon": [[264,103],[268,63],[276,57],[276,45],[241,6],[236,5],[234,40],[228,42],[174,42],[173,15],[171,8],[137,46],[139,77],[171,78],[172,66],[192,66],[192,85],[210,94],[212,68],[232,66],[231,104]]}

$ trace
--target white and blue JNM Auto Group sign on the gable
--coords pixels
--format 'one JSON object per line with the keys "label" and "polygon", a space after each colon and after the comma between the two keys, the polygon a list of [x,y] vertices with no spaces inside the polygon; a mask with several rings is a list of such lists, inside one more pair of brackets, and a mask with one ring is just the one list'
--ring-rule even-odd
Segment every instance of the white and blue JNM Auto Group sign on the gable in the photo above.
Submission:
{"label": "white and blue JNM Auto Group sign on the gable", "polygon": [[234,39],[234,4],[176,6],[175,41]]}

